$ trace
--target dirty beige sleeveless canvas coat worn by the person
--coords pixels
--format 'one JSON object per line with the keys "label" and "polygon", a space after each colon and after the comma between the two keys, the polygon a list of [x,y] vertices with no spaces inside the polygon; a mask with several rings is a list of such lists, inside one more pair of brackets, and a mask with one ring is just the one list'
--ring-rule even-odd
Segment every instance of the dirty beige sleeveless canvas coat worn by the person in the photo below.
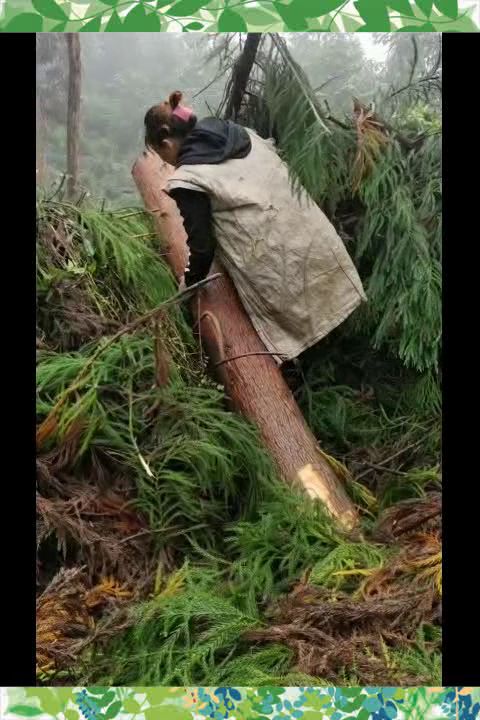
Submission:
{"label": "dirty beige sleeveless canvas coat worn by the person", "polygon": [[206,192],[223,264],[267,350],[297,357],[365,300],[341,239],[305,191],[291,189],[273,142],[249,130],[247,157],[184,165],[176,187]]}

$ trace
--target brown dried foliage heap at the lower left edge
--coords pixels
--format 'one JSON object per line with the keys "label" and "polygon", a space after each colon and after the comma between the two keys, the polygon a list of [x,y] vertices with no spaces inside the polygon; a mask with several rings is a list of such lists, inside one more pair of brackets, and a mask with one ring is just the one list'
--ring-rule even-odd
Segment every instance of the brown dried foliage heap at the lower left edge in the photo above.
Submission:
{"label": "brown dried foliage heap at the lower left edge", "polygon": [[126,627],[126,605],[154,582],[151,534],[130,505],[132,488],[98,452],[77,464],[82,431],[72,426],[37,458],[37,671],[50,680],[93,640]]}

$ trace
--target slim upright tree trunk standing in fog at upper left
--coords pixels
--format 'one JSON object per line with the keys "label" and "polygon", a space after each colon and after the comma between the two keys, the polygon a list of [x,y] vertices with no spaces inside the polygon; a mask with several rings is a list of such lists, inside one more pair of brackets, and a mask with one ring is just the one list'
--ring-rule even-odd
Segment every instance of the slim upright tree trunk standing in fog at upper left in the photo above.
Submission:
{"label": "slim upright tree trunk standing in fog at upper left", "polygon": [[67,196],[72,198],[78,182],[80,145],[80,94],[82,61],[78,33],[67,33],[68,47],[68,110],[67,110]]}

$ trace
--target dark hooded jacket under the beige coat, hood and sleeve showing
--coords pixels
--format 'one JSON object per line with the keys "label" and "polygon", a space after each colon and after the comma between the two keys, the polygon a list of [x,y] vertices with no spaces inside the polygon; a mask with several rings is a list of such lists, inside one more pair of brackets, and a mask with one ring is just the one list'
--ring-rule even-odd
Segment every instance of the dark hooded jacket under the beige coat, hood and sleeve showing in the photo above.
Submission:
{"label": "dark hooded jacket under the beige coat, hood and sleeve showing", "polygon": [[[250,138],[240,125],[218,118],[205,118],[195,125],[183,142],[177,167],[216,165],[225,160],[244,158],[250,150]],[[190,265],[185,274],[185,284],[189,286],[206,277],[215,254],[210,198],[203,192],[185,188],[172,190],[171,196],[183,217],[188,236]]]}

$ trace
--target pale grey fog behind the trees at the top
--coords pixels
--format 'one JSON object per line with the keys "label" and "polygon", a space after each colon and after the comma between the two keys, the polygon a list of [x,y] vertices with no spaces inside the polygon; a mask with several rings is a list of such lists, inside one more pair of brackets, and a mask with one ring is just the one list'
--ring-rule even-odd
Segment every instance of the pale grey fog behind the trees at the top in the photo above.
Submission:
{"label": "pale grey fog behind the trees at the top", "polygon": [[[438,51],[439,40],[415,33],[416,72]],[[382,98],[408,81],[409,33],[284,34],[319,98],[349,113],[352,97]],[[224,38],[206,33],[81,35],[82,106],[80,186],[111,206],[138,204],[130,177],[143,148],[143,118],[173,90],[184,93],[197,116],[215,113],[229,77],[229,62],[210,57]],[[235,39],[235,42],[237,40]],[[65,172],[68,62],[62,34],[37,36],[37,179],[54,187]]]}

